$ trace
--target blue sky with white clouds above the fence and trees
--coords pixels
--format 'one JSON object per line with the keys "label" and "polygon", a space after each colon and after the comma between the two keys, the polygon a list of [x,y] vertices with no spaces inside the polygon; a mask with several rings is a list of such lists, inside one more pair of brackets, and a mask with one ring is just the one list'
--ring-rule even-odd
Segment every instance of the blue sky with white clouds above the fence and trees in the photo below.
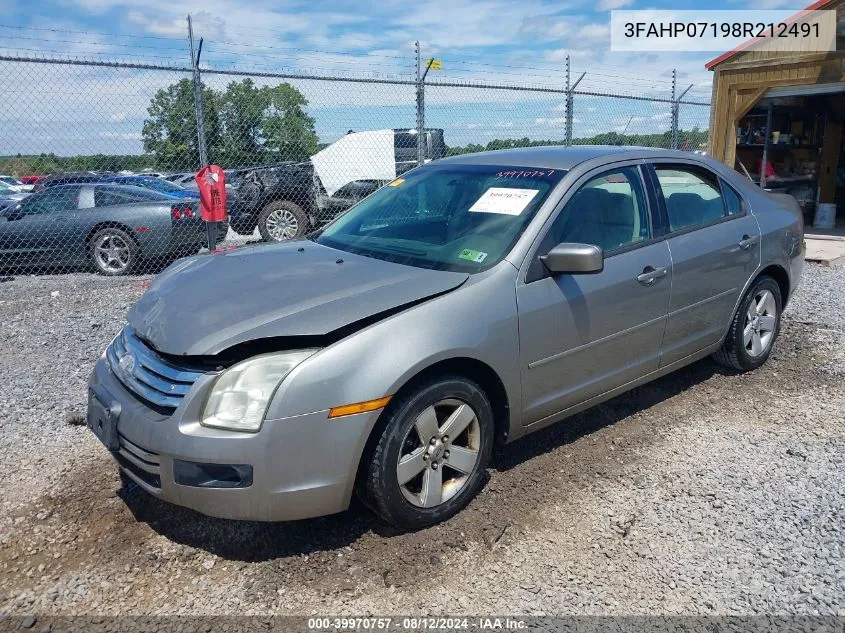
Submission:
{"label": "blue sky with white clouds above the fence and trees", "polygon": [[[706,4],[706,2],[705,2]],[[792,3],[794,5],[794,3]],[[186,15],[203,38],[206,68],[341,77],[410,78],[414,42],[442,60],[432,82],[561,87],[588,92],[671,94],[672,69],[687,98],[707,102],[715,53],[610,52],[612,9],[781,8],[786,0],[0,0],[0,54],[185,66]],[[155,90],[185,76],[0,61],[0,153],[136,153]],[[238,77],[206,75],[217,89]],[[275,83],[279,80],[259,80]],[[297,80],[320,139],[348,129],[414,125],[410,86]],[[426,125],[449,144],[492,138],[563,137],[564,99],[555,93],[486,88],[426,90]],[[669,125],[669,104],[578,96],[575,136]],[[683,106],[681,127],[707,126],[709,110]]]}

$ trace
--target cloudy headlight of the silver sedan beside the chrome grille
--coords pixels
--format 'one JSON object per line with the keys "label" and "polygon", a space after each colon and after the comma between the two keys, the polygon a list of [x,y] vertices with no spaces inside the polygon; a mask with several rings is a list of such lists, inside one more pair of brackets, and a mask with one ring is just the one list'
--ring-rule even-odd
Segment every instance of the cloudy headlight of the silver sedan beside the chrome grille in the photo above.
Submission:
{"label": "cloudy headlight of the silver sedan beside the chrome grille", "polygon": [[233,365],[214,381],[200,424],[231,431],[258,431],[279,384],[316,351],[266,354]]}

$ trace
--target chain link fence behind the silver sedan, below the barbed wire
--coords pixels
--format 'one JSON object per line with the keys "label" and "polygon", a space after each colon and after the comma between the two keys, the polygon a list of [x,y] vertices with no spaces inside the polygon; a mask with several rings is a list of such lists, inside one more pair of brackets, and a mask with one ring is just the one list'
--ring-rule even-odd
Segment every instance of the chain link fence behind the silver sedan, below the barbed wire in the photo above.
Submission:
{"label": "chain link fence behind the silver sedan, below the barbed wire", "polygon": [[420,161],[707,142],[705,102],[579,90],[568,74],[549,87],[197,70],[0,57],[0,273],[155,272],[208,248],[203,152],[225,170],[212,247],[227,248],[302,236]]}

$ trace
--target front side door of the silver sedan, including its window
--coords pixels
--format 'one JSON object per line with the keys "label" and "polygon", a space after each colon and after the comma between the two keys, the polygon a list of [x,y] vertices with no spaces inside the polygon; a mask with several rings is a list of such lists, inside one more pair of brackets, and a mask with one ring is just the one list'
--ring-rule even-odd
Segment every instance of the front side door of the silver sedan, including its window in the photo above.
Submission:
{"label": "front side door of the silver sedan, including its window", "polygon": [[[672,261],[666,242],[653,239],[641,168],[605,168],[577,187],[517,288],[525,424],[660,362]],[[551,276],[537,256],[561,242],[601,246],[604,269]]]}

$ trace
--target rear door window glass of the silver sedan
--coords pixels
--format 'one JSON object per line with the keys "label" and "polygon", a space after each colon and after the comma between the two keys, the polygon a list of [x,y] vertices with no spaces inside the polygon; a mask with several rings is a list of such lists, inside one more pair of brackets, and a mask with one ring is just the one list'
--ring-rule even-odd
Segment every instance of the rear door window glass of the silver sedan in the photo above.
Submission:
{"label": "rear door window glass of the silver sedan", "polygon": [[666,201],[670,231],[710,224],[725,216],[715,174],[693,165],[655,165],[654,170]]}

